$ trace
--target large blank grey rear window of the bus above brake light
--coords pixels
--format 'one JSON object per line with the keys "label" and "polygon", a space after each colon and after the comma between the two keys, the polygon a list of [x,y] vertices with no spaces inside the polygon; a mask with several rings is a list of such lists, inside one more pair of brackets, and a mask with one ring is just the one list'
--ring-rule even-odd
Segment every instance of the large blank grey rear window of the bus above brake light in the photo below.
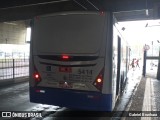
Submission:
{"label": "large blank grey rear window of the bus above brake light", "polygon": [[104,16],[70,14],[41,17],[34,22],[33,45],[37,52],[96,53],[104,31]]}

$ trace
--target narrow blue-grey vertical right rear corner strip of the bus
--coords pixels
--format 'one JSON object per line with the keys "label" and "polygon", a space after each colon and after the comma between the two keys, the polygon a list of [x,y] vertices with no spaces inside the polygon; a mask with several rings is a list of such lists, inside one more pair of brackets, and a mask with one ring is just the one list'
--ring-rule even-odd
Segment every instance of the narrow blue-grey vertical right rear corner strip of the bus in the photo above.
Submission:
{"label": "narrow blue-grey vertical right rear corner strip of the bus", "polygon": [[[114,105],[115,105],[115,99],[114,99],[114,81],[112,79],[112,70],[113,70],[113,14],[110,13],[106,17],[106,23],[105,23],[105,43],[104,43],[104,48],[105,48],[105,71],[104,71],[104,86],[103,86],[103,93],[105,94],[111,94],[112,95],[112,100],[111,103],[111,110],[113,110]],[[107,102],[107,101],[106,101]]]}

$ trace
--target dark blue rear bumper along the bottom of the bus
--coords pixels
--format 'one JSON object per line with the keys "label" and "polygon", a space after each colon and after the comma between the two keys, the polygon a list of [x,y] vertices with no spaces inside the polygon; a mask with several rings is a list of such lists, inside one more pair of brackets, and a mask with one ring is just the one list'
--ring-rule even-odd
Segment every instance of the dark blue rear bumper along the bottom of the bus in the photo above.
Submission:
{"label": "dark blue rear bumper along the bottom of the bus", "polygon": [[99,92],[30,87],[30,101],[82,110],[112,111],[112,95]]}

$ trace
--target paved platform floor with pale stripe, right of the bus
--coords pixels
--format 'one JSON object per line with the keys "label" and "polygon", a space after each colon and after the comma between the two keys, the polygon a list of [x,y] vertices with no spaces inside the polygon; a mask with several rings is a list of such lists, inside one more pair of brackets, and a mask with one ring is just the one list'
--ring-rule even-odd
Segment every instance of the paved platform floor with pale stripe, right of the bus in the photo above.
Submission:
{"label": "paved platform floor with pale stripe, right of the bus", "polygon": [[125,120],[160,120],[160,81],[142,77],[128,111]]}

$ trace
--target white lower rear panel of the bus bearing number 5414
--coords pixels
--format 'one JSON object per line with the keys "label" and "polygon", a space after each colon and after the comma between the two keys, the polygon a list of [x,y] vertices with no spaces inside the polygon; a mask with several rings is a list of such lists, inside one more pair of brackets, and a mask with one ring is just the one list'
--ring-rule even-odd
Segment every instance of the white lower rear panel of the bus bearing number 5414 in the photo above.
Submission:
{"label": "white lower rear panel of the bus bearing number 5414", "polygon": [[54,61],[48,60],[47,56],[46,59],[34,56],[34,71],[41,77],[40,81],[35,80],[35,85],[98,92],[100,90],[94,84],[103,66],[104,58],[97,58],[93,61]]}

